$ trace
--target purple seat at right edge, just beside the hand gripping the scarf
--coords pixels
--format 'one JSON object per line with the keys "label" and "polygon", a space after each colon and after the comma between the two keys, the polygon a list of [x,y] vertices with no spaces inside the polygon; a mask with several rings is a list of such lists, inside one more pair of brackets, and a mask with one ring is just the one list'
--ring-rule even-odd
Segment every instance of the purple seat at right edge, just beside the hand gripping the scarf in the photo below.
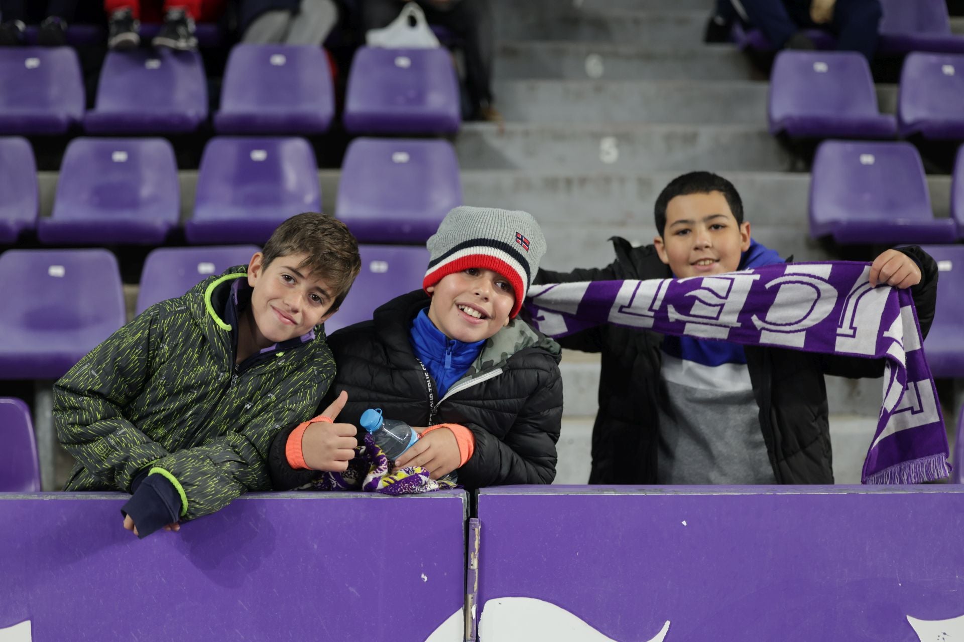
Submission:
{"label": "purple seat at right edge, just beside the hand gripping the scarf", "polygon": [[923,247],[937,261],[938,270],[937,309],[924,339],[927,365],[934,376],[964,377],[964,245]]}

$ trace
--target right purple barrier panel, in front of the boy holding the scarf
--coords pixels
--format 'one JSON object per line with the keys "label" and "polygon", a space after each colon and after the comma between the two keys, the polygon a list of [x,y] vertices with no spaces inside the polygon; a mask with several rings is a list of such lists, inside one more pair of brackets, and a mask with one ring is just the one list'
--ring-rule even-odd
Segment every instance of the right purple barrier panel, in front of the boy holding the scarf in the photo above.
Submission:
{"label": "right purple barrier panel, in front of the boy holding the scarf", "polygon": [[964,640],[964,487],[506,487],[479,639]]}

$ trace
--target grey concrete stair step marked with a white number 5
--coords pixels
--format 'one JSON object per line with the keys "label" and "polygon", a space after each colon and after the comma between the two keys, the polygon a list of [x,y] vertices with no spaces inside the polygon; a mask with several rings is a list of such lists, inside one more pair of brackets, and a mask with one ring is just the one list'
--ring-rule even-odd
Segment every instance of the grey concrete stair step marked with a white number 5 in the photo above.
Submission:
{"label": "grey concrete stair step marked with a white number 5", "polygon": [[788,170],[790,153],[763,126],[467,123],[463,169],[565,172]]}

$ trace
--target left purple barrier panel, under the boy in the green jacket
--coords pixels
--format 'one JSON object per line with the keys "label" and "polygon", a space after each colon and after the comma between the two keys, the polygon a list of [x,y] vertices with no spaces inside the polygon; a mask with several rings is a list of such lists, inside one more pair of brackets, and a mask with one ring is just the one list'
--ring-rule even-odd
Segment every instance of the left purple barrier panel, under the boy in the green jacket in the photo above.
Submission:
{"label": "left purple barrier panel, under the boy in the green jacket", "polygon": [[144,540],[125,497],[0,494],[0,640],[463,639],[462,491],[255,494]]}

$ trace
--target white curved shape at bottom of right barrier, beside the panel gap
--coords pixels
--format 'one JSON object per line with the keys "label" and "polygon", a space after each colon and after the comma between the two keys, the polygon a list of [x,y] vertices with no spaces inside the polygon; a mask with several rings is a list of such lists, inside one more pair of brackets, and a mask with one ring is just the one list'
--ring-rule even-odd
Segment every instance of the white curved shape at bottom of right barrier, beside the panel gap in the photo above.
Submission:
{"label": "white curved shape at bottom of right barrier, beside the panel gap", "polygon": [[[648,642],[663,642],[669,628],[666,620]],[[488,600],[479,618],[479,639],[485,642],[616,642],[562,606],[536,598]],[[430,637],[426,642],[436,640]]]}

